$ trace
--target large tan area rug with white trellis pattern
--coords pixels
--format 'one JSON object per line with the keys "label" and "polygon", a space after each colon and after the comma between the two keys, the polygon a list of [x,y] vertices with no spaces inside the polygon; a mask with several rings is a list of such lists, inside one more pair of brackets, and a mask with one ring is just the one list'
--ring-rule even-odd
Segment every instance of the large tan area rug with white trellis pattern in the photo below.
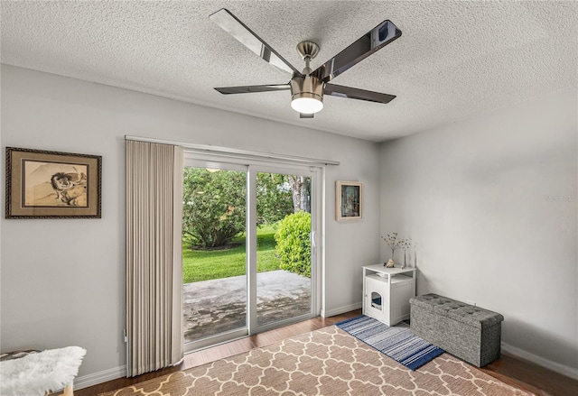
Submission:
{"label": "large tan area rug with white trellis pattern", "polygon": [[330,326],[101,396],[529,394],[448,354],[413,372]]}

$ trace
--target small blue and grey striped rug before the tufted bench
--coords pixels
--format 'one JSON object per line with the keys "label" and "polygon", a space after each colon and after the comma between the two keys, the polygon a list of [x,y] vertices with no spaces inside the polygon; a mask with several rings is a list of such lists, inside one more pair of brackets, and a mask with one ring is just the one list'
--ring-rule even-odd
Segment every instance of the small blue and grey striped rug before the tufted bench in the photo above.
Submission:
{"label": "small blue and grey striped rug before the tufted bench", "polygon": [[389,327],[365,315],[344,320],[336,323],[335,326],[410,370],[423,366],[444,352],[443,349],[415,336],[409,327]]}

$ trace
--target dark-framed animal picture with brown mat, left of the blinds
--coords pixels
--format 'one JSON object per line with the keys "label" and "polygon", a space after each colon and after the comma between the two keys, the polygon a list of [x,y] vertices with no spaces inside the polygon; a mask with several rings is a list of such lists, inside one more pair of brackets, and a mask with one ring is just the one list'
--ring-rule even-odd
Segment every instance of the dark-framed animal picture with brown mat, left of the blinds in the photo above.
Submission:
{"label": "dark-framed animal picture with brown mat, left of the blinds", "polygon": [[6,218],[98,217],[102,157],[6,147]]}

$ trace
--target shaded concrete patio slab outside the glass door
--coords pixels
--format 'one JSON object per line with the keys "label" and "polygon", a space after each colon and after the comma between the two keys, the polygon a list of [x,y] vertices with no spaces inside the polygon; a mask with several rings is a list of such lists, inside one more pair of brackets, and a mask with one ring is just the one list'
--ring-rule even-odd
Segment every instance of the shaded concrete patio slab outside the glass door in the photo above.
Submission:
{"label": "shaded concrete patio slab outside the glass door", "polygon": [[[283,270],[256,275],[259,325],[311,311],[311,280]],[[247,277],[186,283],[183,291],[184,340],[246,326]]]}

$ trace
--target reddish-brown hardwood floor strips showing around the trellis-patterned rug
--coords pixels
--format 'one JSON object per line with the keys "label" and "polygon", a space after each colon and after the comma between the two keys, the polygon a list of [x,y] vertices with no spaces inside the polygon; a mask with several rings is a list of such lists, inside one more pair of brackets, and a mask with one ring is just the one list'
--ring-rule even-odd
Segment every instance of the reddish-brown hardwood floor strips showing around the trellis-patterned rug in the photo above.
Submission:
{"label": "reddish-brown hardwood floor strips showing around the trellis-patterned rug", "polygon": [[[283,340],[284,338],[298,336],[312,330],[328,327],[341,320],[354,318],[360,314],[361,309],[357,309],[331,318],[312,318],[291,326],[267,331],[266,333],[247,336],[227,344],[213,346],[185,355],[182,364],[178,366],[159,370],[154,373],[146,373],[135,378],[119,378],[114,381],[104,382],[89,388],[75,391],[74,394],[76,396],[94,396],[104,391],[114,391],[136,382],[143,382],[167,373],[186,370],[200,364],[214,362],[228,356],[247,352],[252,348],[273,344]],[[488,364],[481,370],[484,373],[488,373],[489,375],[498,378],[502,382],[506,382],[525,391],[531,391],[540,396],[569,396],[578,394],[578,381],[547,370],[537,364],[518,359],[512,355],[502,354],[497,361]]]}

